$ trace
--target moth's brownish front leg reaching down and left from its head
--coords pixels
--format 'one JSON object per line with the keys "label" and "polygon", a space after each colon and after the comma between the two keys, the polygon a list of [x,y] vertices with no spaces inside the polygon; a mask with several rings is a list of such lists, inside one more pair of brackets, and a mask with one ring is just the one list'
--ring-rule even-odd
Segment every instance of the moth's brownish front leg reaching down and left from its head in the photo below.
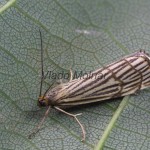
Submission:
{"label": "moth's brownish front leg reaching down and left from its head", "polygon": [[31,139],[39,131],[39,129],[41,128],[43,122],[45,121],[46,117],[48,116],[50,109],[51,109],[51,106],[48,106],[48,108],[45,112],[45,115],[42,118],[42,120],[40,121],[40,123],[38,124],[38,126],[36,128],[33,129],[34,131],[28,136],[29,139]]}

